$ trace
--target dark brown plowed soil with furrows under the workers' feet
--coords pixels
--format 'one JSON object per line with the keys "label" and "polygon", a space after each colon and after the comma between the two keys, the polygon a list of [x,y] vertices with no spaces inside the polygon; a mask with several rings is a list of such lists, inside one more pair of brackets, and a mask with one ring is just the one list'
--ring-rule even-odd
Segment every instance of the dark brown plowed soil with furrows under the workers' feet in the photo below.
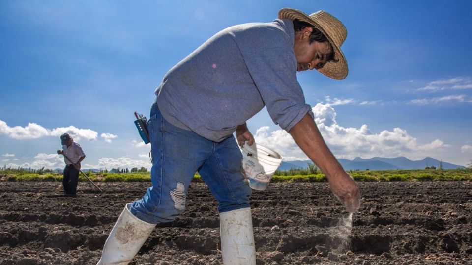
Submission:
{"label": "dark brown plowed soil with furrows under the workers' feet", "polygon": [[[0,182],[0,265],[94,264],[124,205],[149,183]],[[471,182],[359,183],[353,227],[327,183],[272,183],[251,197],[258,264],[472,264]],[[131,264],[221,264],[216,202],[192,183],[187,210]],[[346,222],[349,224],[349,221]]]}

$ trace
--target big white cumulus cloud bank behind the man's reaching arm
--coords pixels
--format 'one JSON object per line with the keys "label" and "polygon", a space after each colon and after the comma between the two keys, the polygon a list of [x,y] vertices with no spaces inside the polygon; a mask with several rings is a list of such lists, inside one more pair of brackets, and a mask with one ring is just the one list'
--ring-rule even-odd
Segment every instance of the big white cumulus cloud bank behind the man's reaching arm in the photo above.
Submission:
{"label": "big white cumulus cloud bank behind the man's reaching arm", "polygon": [[[401,128],[373,133],[365,124],[359,128],[342,127],[336,121],[336,111],[329,104],[317,104],[312,110],[324,140],[337,158],[406,156],[422,159],[450,147],[439,139],[422,144]],[[284,130],[269,133],[269,127],[265,126],[259,128],[254,137],[257,143],[273,148],[286,161],[307,159],[292,136]]]}

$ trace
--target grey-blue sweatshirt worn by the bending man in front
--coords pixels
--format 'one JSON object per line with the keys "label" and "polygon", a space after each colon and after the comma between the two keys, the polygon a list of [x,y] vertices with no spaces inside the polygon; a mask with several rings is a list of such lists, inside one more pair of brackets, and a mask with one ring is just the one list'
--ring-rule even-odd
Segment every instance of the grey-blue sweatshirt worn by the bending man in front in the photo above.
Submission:
{"label": "grey-blue sweatshirt worn by the bending man in front", "polygon": [[306,113],[291,20],[228,27],[177,63],[156,89],[163,117],[220,142],[264,106],[287,132]]}

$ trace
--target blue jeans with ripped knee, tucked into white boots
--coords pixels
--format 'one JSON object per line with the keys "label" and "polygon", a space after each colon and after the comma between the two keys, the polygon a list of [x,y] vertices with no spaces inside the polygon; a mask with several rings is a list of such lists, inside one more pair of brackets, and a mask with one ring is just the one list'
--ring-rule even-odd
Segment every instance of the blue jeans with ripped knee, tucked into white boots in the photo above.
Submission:
{"label": "blue jeans with ripped knee, tucked into white boots", "polygon": [[242,155],[235,137],[217,143],[168,123],[157,104],[148,121],[151,141],[152,186],[130,212],[159,224],[172,222],[185,210],[188,186],[199,172],[218,201],[218,212],[249,207],[251,188],[241,173]]}

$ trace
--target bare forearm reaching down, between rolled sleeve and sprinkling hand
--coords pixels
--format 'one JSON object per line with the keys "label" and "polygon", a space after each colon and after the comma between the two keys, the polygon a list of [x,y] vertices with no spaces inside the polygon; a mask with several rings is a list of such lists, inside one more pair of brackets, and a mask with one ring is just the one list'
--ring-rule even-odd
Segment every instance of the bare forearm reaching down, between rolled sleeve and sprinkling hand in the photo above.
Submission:
{"label": "bare forearm reaching down, between rolled sleeve and sprinkling hand", "polygon": [[290,134],[300,149],[311,159],[320,170],[330,178],[337,172],[344,171],[324,142],[313,118],[306,114],[290,130]]}

